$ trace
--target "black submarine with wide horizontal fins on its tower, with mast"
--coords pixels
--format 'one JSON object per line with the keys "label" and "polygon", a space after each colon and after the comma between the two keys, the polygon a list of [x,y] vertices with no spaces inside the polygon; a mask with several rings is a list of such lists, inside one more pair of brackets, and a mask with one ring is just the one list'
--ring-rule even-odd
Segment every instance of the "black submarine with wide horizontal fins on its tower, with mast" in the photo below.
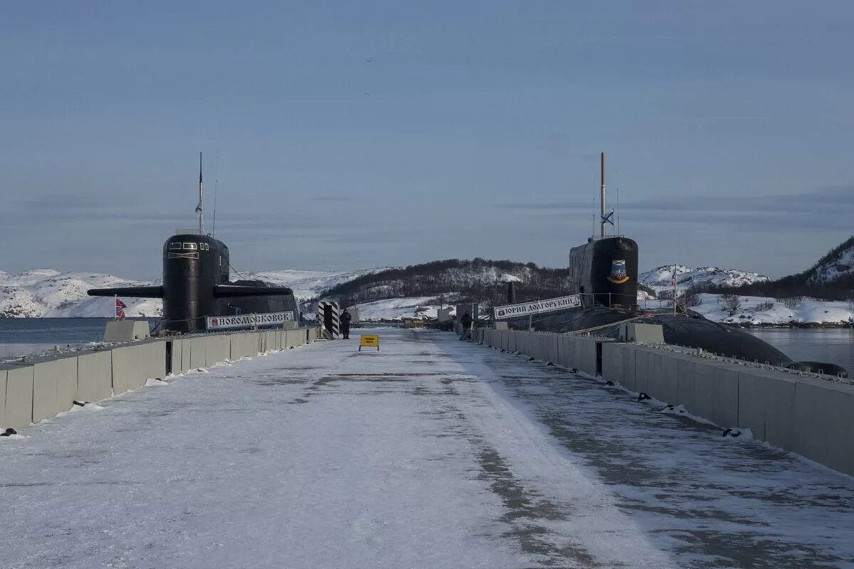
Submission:
{"label": "black submarine with wide horizontal fins on its tower, with mast", "polygon": [[230,282],[228,246],[204,234],[202,154],[199,153],[199,229],[179,230],[163,244],[163,284],[152,287],[91,288],[89,296],[163,299],[161,328],[200,332],[207,316],[294,311],[293,291],[261,281]]}

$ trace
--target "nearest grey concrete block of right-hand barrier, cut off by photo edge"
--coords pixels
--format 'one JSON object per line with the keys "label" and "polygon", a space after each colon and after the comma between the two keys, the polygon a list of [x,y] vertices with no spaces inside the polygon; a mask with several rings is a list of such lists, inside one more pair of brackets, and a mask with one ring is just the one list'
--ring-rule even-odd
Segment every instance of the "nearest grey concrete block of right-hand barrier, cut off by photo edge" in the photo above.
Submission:
{"label": "nearest grey concrete block of right-hand barrier, cut off by photo edge", "polygon": [[854,386],[798,378],[793,450],[854,475]]}

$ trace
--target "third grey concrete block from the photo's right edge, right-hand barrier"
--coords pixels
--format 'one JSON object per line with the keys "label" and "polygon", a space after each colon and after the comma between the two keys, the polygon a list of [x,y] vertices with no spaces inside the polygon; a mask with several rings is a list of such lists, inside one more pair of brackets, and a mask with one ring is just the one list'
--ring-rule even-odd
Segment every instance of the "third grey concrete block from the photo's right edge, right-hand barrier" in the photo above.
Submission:
{"label": "third grey concrete block from the photo's right edge, right-hand barrier", "polygon": [[694,396],[699,415],[719,427],[736,427],[739,421],[739,372],[729,363],[696,363]]}

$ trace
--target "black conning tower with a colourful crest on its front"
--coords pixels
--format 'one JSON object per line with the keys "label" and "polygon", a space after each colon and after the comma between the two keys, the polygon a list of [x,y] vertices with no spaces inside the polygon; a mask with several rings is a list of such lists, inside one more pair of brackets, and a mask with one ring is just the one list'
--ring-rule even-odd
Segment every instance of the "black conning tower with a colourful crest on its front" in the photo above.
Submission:
{"label": "black conning tower with a colourful crest on its front", "polygon": [[591,237],[570,249],[570,292],[585,306],[637,305],[638,244],[623,236]]}

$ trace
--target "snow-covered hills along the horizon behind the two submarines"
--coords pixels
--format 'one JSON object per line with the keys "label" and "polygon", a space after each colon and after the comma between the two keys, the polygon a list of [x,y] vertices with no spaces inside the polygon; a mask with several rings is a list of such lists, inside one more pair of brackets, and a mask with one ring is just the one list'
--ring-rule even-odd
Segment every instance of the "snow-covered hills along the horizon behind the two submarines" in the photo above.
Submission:
{"label": "snow-covered hills along the horizon behind the two submarines", "polygon": [[[667,297],[672,265],[641,273],[639,299]],[[352,271],[266,270],[243,272],[232,278],[262,280],[291,287],[302,310],[312,315],[319,299],[358,305],[363,318],[435,316],[440,305],[506,302],[508,281],[517,283],[519,302],[547,299],[567,293],[569,270],[538,267],[533,263],[493,261],[483,258],[446,259],[407,267]],[[824,299],[854,298],[854,237],[798,275],[771,281],[744,270],[676,267],[677,285],[709,293],[736,293],[771,299],[809,296]],[[18,275],[0,271],[0,317],[111,316],[113,299],[86,296],[89,288],[151,285],[102,273],[59,273],[28,270]],[[159,317],[159,299],[122,299],[127,316]],[[777,316],[775,316],[777,317]],[[780,318],[787,316],[780,316]]]}

